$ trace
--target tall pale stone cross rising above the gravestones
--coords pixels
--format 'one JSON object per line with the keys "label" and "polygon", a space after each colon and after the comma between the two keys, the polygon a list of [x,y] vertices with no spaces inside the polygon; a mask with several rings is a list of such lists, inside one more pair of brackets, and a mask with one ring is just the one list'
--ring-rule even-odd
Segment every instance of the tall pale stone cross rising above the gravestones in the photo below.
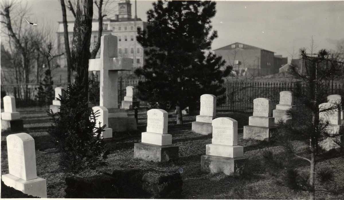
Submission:
{"label": "tall pale stone cross rising above the gravestones", "polygon": [[133,59],[118,58],[117,36],[103,35],[100,58],[89,59],[88,71],[100,71],[100,106],[118,108],[118,71],[131,70]]}

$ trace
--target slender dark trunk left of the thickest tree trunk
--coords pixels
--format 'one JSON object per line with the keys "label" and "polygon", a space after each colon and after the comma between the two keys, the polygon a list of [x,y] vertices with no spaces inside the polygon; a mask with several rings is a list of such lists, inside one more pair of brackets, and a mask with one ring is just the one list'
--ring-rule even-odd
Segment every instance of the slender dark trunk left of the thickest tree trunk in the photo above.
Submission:
{"label": "slender dark trunk left of the thickest tree trunk", "polygon": [[65,53],[66,53],[66,58],[67,58],[67,82],[71,83],[72,59],[71,59],[71,50],[69,49],[68,25],[67,25],[67,16],[66,16],[66,6],[64,3],[64,0],[61,0],[61,8],[62,8],[62,21],[63,21],[63,29],[64,29]]}

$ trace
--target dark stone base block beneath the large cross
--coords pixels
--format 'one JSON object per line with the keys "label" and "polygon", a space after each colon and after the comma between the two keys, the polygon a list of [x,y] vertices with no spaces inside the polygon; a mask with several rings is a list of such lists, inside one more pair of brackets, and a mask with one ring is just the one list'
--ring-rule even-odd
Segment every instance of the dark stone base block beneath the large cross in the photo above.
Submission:
{"label": "dark stone base block beneath the large cross", "polygon": [[136,119],[131,117],[109,117],[108,123],[113,132],[137,130]]}

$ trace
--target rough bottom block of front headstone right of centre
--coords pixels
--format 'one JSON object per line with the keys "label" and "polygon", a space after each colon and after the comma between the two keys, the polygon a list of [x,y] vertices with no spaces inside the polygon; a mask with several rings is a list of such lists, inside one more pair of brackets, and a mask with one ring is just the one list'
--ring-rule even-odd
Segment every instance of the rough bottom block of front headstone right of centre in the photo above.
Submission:
{"label": "rough bottom block of front headstone right of centre", "polygon": [[240,175],[245,170],[246,157],[201,156],[201,170],[208,173],[223,172],[227,175]]}

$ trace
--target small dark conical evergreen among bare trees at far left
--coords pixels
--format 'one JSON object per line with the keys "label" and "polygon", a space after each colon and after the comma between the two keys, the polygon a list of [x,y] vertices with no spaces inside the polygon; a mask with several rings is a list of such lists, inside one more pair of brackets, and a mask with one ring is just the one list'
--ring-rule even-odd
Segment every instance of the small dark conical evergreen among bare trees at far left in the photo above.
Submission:
{"label": "small dark conical evergreen among bare trees at far left", "polygon": [[36,88],[38,92],[35,97],[39,106],[45,105],[46,109],[48,109],[55,97],[53,89],[54,82],[50,69],[45,70],[44,75],[43,83],[41,82],[40,86]]}

